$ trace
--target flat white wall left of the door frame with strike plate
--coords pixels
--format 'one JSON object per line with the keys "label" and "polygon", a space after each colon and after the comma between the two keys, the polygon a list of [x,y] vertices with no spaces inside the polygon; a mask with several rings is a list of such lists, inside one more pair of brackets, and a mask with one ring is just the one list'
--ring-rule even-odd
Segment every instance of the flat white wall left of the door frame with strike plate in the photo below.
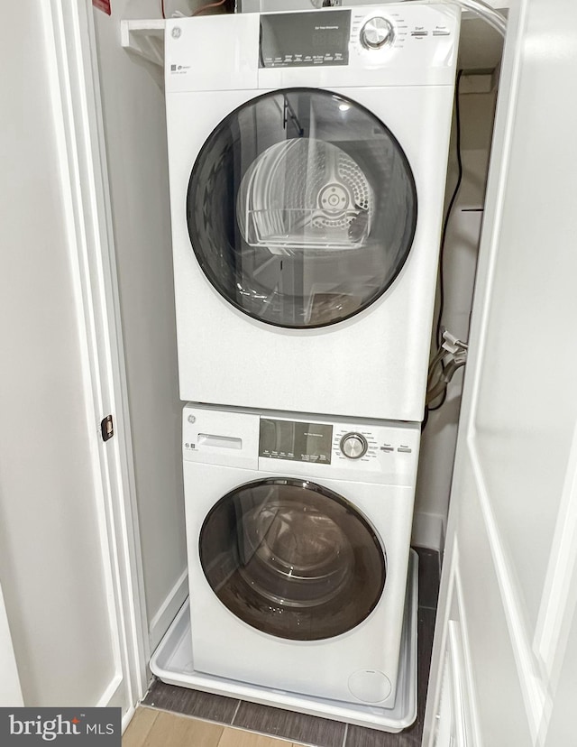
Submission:
{"label": "flat white wall left of the door frame with strike plate", "polygon": [[118,648],[47,8],[5,5],[0,25],[0,576],[25,705],[97,705]]}

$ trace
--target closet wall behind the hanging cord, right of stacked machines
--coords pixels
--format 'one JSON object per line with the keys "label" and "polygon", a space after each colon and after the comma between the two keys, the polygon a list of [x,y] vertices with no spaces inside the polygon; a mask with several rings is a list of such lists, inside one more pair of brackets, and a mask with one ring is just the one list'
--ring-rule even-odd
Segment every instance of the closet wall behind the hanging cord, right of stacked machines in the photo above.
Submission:
{"label": "closet wall behind the hanging cord, right of stacked machines", "polygon": [[[463,90],[466,90],[466,78],[463,79],[463,83]],[[464,341],[469,336],[469,317],[482,220],[479,208],[483,207],[485,198],[495,100],[495,92],[462,94],[460,97],[463,182],[453,208],[445,243],[443,324]],[[455,183],[453,127],[447,179],[449,198]],[[435,319],[437,311],[438,306],[435,309]],[[426,547],[442,548],[462,389],[463,369],[454,375],[443,407],[430,413],[426,429],[423,431],[413,541]]]}

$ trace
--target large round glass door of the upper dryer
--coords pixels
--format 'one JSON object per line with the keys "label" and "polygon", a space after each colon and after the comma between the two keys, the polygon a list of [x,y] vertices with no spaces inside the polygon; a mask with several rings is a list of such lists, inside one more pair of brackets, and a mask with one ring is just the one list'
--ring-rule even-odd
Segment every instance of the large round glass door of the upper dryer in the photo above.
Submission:
{"label": "large round glass door of the upper dryer", "polygon": [[279,327],[324,327],[394,281],[415,234],[417,193],[405,153],[375,115],[294,88],[252,99],[210,134],[187,217],[198,263],[224,299]]}

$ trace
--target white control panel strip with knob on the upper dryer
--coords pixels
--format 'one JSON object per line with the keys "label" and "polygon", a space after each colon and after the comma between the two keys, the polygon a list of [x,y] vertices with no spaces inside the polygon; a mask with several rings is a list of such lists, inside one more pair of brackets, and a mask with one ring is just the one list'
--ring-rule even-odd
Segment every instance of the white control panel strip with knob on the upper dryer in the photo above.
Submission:
{"label": "white control panel strip with knob on the upper dryer", "polygon": [[453,86],[460,13],[393,3],[169,19],[166,92]]}

